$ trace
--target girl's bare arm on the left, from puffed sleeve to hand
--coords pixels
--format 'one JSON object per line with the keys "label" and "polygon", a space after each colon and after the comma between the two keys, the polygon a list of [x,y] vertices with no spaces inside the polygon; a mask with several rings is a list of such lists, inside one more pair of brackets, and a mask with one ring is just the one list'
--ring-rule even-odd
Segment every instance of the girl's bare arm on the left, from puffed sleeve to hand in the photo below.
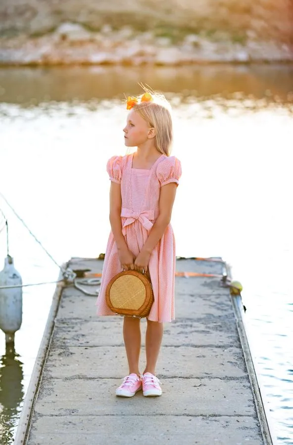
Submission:
{"label": "girl's bare arm on the left, from puffed sleeve to hand", "polygon": [[111,224],[112,233],[117,245],[121,267],[128,269],[128,268],[133,268],[135,257],[128,250],[127,244],[122,234],[121,207],[122,207],[121,186],[116,182],[111,182],[109,220]]}

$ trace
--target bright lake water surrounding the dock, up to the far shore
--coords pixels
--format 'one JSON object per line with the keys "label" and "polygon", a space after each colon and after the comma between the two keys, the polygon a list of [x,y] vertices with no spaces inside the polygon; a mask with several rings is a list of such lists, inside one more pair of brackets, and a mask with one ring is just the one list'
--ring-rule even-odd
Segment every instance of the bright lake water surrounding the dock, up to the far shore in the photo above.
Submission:
{"label": "bright lake water surrounding the dock, up to the far shore", "polygon": [[[105,165],[125,153],[123,98],[140,92],[138,82],[173,106],[173,154],[183,168],[172,217],[177,255],[232,265],[276,443],[293,444],[293,66],[1,69],[0,191],[58,264],[104,252]],[[0,209],[23,282],[57,279],[1,198]],[[3,263],[4,231],[0,253]],[[3,445],[13,443],[54,287],[23,289],[13,354],[0,332]]]}

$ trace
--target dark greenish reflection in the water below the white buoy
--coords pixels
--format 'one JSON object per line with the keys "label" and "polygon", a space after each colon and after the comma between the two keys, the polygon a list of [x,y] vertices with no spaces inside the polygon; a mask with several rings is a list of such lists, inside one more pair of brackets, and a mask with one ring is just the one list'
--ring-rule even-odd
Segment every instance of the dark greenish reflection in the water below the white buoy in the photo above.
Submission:
{"label": "dark greenish reflection in the water below the white buoy", "polygon": [[12,444],[23,401],[23,363],[14,346],[7,346],[0,359],[0,443]]}

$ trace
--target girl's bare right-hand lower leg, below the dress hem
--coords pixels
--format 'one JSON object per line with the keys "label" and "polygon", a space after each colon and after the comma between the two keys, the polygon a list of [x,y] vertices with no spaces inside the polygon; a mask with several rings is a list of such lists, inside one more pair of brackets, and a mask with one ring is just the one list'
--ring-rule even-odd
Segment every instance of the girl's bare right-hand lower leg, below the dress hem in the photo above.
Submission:
{"label": "girl's bare right-hand lower leg, below the dress hem", "polygon": [[146,355],[147,366],[144,371],[155,375],[155,367],[163,338],[163,323],[147,320]]}

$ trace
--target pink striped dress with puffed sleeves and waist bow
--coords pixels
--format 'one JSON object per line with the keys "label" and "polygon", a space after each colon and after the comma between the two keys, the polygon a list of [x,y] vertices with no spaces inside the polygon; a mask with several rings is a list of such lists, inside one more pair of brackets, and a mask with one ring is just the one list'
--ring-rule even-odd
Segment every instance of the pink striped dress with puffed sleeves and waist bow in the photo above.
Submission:
{"label": "pink striped dress with puffed sleeves and waist bow", "polygon": [[[134,255],[143,248],[159,214],[160,187],[179,183],[181,163],[174,156],[161,155],[150,170],[133,169],[133,154],[113,156],[107,162],[110,180],[121,184],[122,233]],[[151,321],[174,319],[175,239],[171,224],[153,249],[149,264],[154,303],[148,315]],[[121,271],[113,233],[108,239],[101,286],[97,299],[98,315],[114,315],[106,305],[105,291],[111,278]]]}

